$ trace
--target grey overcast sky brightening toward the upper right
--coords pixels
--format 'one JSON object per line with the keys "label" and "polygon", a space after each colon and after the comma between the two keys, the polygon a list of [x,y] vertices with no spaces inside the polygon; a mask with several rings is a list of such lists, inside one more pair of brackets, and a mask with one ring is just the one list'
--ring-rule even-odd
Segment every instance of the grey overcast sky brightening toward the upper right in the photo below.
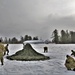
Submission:
{"label": "grey overcast sky brightening toward the upper right", "polygon": [[50,39],[54,29],[75,31],[75,0],[0,0],[0,36]]}

